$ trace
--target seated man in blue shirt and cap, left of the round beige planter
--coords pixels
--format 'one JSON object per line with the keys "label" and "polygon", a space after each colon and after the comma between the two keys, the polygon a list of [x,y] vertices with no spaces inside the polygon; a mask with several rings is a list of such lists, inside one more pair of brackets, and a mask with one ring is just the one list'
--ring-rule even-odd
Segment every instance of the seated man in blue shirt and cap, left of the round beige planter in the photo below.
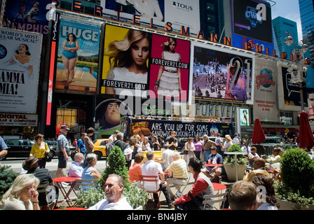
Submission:
{"label": "seated man in blue shirt and cap, left of the round beige planter", "polygon": [[[216,161],[216,164],[222,164],[222,156],[217,153],[217,147],[212,146],[210,148],[210,155],[208,156],[207,160],[210,160],[210,164],[214,165],[214,161]],[[213,183],[219,183],[219,176],[221,175],[221,168],[220,167],[205,167],[205,169],[202,169],[203,174],[205,174],[207,177],[211,179]]]}

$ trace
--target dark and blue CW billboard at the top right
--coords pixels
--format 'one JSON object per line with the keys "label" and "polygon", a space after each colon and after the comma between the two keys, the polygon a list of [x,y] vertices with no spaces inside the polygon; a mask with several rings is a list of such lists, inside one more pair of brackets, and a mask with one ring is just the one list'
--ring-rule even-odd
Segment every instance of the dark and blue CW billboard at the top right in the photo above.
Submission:
{"label": "dark and blue CW billboard at the top right", "polygon": [[266,52],[266,48],[273,50],[270,3],[261,0],[233,0],[231,13],[234,47],[247,47],[259,52]]}

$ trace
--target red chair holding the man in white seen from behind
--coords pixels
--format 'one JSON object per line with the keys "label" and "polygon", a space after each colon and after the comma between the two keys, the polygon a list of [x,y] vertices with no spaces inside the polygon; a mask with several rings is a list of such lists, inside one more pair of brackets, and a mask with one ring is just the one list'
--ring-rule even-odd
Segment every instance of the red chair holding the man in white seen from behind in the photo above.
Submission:
{"label": "red chair holding the man in white seen from behind", "polygon": [[161,191],[159,191],[158,176],[140,175],[139,181],[141,183],[141,188],[143,190],[146,190],[147,193],[150,193],[152,201],[153,201],[153,194],[157,195],[158,203],[156,206],[157,206],[157,209],[160,208],[161,207],[161,201],[159,200],[159,196],[161,195]]}

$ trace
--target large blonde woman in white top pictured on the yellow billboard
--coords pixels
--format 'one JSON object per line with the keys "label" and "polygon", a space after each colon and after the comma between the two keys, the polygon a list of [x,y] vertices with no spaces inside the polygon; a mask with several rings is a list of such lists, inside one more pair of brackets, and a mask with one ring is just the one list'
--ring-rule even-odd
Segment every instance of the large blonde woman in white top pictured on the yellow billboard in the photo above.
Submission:
{"label": "large blonde woman in white top pictured on the yellow billboard", "polygon": [[[151,48],[149,33],[130,29],[122,41],[109,43],[104,55],[109,56],[110,70],[107,80],[130,83],[147,83],[147,64]],[[127,90],[118,87],[106,87],[106,94],[121,94]],[[130,91],[130,89],[128,89]]]}

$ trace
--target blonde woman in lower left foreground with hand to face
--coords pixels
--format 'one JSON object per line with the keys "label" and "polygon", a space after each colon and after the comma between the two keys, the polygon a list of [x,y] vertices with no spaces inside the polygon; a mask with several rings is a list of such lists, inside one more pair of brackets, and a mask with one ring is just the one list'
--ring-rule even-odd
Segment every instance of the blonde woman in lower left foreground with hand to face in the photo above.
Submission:
{"label": "blonde woman in lower left foreground with hand to face", "polygon": [[0,210],[40,210],[38,186],[39,179],[33,174],[18,176],[2,196]]}

